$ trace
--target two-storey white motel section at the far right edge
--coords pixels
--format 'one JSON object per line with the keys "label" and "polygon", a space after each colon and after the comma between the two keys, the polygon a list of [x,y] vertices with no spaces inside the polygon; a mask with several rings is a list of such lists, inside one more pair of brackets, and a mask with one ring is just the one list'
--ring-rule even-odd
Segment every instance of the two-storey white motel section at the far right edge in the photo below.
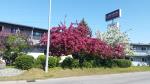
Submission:
{"label": "two-storey white motel section at the far right edge", "polygon": [[133,66],[150,65],[150,44],[131,43],[132,56],[127,56],[132,61]]}

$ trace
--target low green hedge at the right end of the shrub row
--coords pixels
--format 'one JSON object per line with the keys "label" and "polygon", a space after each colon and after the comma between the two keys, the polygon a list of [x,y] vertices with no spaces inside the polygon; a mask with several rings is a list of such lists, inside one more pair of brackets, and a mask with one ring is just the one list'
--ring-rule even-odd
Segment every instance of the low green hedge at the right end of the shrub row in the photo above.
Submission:
{"label": "low green hedge at the right end of the shrub row", "polygon": [[114,62],[118,67],[127,68],[131,66],[131,61],[126,59],[115,59]]}

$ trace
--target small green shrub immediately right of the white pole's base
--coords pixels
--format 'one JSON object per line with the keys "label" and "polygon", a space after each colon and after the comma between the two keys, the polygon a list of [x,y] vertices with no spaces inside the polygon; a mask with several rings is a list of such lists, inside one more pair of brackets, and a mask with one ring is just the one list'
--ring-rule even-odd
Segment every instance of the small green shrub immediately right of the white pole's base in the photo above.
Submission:
{"label": "small green shrub immediately right of the white pole's base", "polygon": [[57,67],[58,64],[59,64],[58,57],[49,57],[49,60],[48,60],[48,67],[49,68]]}

